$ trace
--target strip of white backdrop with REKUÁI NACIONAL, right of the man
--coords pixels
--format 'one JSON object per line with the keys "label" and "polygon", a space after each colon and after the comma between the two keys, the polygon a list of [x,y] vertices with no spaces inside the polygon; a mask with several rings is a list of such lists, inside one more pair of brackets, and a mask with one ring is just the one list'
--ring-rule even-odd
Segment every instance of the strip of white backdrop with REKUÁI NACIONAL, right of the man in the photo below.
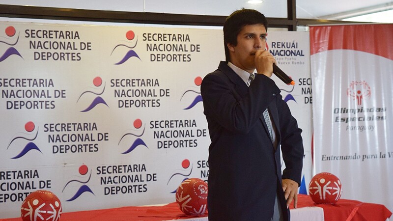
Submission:
{"label": "strip of white backdrop with REKU\u00c1I NACIONAL, right of the man", "polygon": [[[289,106],[292,115],[303,130],[303,173],[300,193],[308,194],[311,180],[312,154],[312,90],[309,65],[309,33],[308,32],[269,32],[266,48],[274,55],[277,66],[294,81],[295,85],[283,83],[277,76],[272,79],[281,90],[282,99]],[[285,165],[282,164],[282,170]]]}

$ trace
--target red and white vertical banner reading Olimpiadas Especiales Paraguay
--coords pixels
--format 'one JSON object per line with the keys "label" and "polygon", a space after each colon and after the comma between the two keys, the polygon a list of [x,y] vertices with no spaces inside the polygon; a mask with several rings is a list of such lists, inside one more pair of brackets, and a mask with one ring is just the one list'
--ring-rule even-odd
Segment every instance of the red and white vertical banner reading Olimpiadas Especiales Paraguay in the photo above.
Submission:
{"label": "red and white vertical banner reading Olimpiadas Especiales Paraguay", "polygon": [[393,210],[393,25],[310,27],[314,169]]}

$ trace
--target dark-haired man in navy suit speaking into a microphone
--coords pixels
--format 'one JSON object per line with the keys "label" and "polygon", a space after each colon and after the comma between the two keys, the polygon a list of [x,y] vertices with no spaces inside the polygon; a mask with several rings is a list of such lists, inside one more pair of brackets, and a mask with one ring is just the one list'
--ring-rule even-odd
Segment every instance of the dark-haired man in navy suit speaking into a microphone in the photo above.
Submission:
{"label": "dark-haired man in navy suit speaking into a microphone", "polygon": [[289,220],[287,207],[297,205],[302,130],[270,79],[276,60],[265,50],[266,29],[255,10],[232,13],[224,24],[226,62],[201,84],[211,138],[209,221]]}

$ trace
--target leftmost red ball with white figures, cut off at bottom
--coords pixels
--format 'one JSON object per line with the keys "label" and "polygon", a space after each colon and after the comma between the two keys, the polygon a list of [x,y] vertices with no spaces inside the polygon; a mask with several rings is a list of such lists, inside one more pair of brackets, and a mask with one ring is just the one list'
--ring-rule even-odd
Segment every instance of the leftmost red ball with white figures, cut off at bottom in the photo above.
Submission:
{"label": "leftmost red ball with white figures, cut off at bottom", "polygon": [[21,206],[23,221],[58,221],[61,211],[60,200],[54,193],[46,190],[28,194]]}

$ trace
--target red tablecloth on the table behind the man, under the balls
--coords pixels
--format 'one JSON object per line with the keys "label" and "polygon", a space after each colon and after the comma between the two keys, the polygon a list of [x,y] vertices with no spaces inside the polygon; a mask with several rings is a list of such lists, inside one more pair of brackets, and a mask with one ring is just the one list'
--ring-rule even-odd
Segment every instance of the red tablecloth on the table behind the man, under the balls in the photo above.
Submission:
{"label": "red tablecloth on the table behind the man, under the balls", "polygon": [[[335,205],[315,204],[308,195],[299,194],[298,208],[314,206],[323,208],[325,221],[385,221],[392,215],[392,212],[381,204],[348,199],[340,199]],[[165,206],[129,206],[63,213],[60,221],[164,221],[187,218],[189,217],[179,210],[176,203],[169,203]],[[21,218],[0,219],[0,221],[21,220]]]}

